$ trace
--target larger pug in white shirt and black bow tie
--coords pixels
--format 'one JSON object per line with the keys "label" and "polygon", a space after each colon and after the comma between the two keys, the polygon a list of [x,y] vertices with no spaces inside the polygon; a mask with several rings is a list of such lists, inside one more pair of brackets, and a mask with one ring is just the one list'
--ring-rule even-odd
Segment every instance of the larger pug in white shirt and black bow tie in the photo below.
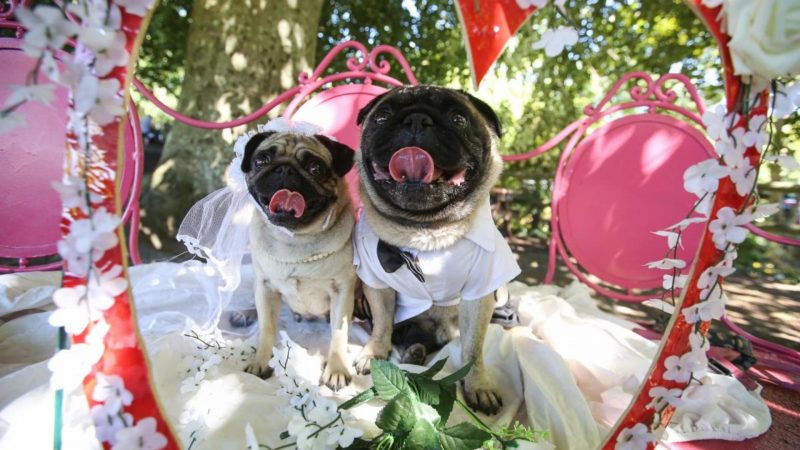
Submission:
{"label": "larger pug in white shirt and black bow tie", "polygon": [[497,115],[463,91],[413,86],[376,97],[357,121],[363,215],[354,262],[373,329],[356,369],[388,356],[394,323],[409,336],[433,334],[438,347],[460,335],[462,363],[474,362],[464,397],[494,414],[502,399],[483,341],[495,291],[520,273],[489,206],[502,169]]}

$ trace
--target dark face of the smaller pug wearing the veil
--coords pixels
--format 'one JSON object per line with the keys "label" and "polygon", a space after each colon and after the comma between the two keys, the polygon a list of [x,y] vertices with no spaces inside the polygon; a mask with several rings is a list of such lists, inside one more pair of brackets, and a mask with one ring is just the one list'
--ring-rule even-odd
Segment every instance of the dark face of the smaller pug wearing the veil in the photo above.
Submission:
{"label": "dark face of the smaller pug wearing the veil", "polygon": [[291,230],[339,200],[339,183],[352,166],[353,150],[321,135],[256,134],[242,158],[250,195],[271,223]]}

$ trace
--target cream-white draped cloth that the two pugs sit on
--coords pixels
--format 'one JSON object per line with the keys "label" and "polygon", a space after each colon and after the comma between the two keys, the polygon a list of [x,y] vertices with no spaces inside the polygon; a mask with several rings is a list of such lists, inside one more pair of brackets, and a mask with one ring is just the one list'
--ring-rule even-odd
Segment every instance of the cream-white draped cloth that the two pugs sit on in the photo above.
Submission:
{"label": "cream-white draped cloth that the two pugs sit on", "polygon": [[[56,272],[0,276],[0,316],[51,309],[59,278]],[[248,423],[259,443],[279,445],[290,415],[288,399],[278,395],[274,378],[263,381],[245,373],[246,358],[216,364],[203,380],[186,379],[187,364],[208,358],[208,352],[198,348],[199,341],[185,334],[210,332],[209,324],[216,320],[220,279],[214,270],[198,262],[153,263],[132,267],[130,279],[157,390],[184,447],[194,441],[193,450],[247,448]],[[242,266],[241,279],[226,302],[229,310],[252,304],[249,266]],[[599,311],[589,291],[577,282],[566,288],[512,283],[509,291],[521,326],[503,330],[492,325],[487,334],[484,348],[491,351],[485,352],[486,365],[504,400],[502,411],[487,417],[487,423],[499,427],[519,419],[548,431],[555,448],[596,448],[625,410],[657,344],[634,333],[634,324]],[[48,314],[18,314],[0,325],[0,449],[52,448],[54,393],[47,360],[55,352],[56,329],[48,325]],[[328,325],[297,323],[284,311],[281,327],[307,350],[302,373],[316,383],[330,336]],[[247,335],[242,340],[226,337],[232,351],[248,348]],[[366,338],[360,327],[353,327],[351,355]],[[436,358],[443,356],[449,357],[446,370],[459,367],[458,342]],[[769,428],[770,413],[757,392],[730,377],[711,378],[719,387],[717,396],[680,407],[664,435],[666,441],[742,440]],[[369,377],[356,376],[343,391],[322,391],[342,401],[368,382]],[[65,397],[64,448],[100,448],[92,442],[94,431],[82,394]],[[377,430],[378,410],[378,405],[366,404],[354,411],[367,435]],[[450,420],[467,419],[454,413]]]}

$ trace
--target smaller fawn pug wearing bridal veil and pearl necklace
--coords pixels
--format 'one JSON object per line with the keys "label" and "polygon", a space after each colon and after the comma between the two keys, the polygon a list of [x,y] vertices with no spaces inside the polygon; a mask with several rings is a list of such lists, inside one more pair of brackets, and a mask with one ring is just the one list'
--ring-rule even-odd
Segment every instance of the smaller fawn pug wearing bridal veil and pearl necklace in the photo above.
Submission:
{"label": "smaller fawn pug wearing bridal veil and pearl necklace", "polygon": [[258,214],[250,224],[258,349],[247,371],[272,375],[281,302],[297,316],[330,319],[331,344],[321,382],[350,383],[347,335],[356,274],[354,216],[344,175],[354,152],[323,135],[264,132],[246,144],[242,172]]}

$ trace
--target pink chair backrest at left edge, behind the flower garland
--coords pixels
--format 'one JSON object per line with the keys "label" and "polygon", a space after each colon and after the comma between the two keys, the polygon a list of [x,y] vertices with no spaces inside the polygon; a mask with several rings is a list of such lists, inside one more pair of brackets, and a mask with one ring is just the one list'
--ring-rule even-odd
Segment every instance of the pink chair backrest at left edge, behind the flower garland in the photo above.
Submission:
{"label": "pink chair backrest at left edge, behind the flower garland", "polygon": [[[21,50],[22,41],[0,38],[0,104],[10,85],[24,85],[35,61]],[[60,63],[63,55],[57,55]],[[61,199],[52,183],[63,174],[68,92],[59,87],[49,106],[27,102],[18,111],[26,126],[0,139],[0,273],[55,269],[61,239]],[[125,127],[125,169],[122,173],[123,219],[138,234],[138,196],[141,186],[142,147],[139,121],[131,108]],[[135,241],[134,241],[135,242]],[[138,261],[138,252],[131,250]]]}

